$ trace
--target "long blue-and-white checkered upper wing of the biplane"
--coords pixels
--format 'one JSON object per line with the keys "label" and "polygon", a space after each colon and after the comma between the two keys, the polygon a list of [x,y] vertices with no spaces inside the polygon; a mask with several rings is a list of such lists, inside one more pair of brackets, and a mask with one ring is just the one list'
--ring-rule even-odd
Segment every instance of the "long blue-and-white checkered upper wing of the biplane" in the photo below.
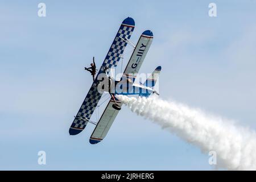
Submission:
{"label": "long blue-and-white checkered upper wing of the biplane", "polygon": [[[131,34],[134,30],[134,20],[133,18],[126,18],[123,20],[117,35],[115,35],[115,39],[112,43],[112,46],[109,49],[108,55],[106,56],[96,79],[94,80],[90,90],[85,97],[84,102],[82,102],[82,106],[80,107],[76,118],[74,119],[71,127],[69,128],[69,134],[76,135],[79,134],[82,130],[85,129],[88,121],[86,119],[90,119],[93,114],[94,109],[96,108],[98,101],[102,96],[102,93],[97,90],[97,78],[100,73],[104,73],[104,68],[111,68],[112,66],[116,67],[118,61],[125,50],[127,43],[123,39],[130,39]],[[122,39],[121,39],[122,38]],[[85,119],[86,118],[86,119]]]}

